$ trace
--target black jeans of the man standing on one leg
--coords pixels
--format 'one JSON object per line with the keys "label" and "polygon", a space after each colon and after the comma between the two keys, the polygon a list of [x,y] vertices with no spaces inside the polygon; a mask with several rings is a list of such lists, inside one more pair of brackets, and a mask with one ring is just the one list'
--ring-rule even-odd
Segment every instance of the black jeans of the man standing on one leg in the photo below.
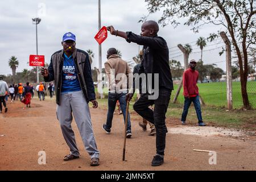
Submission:
{"label": "black jeans of the man standing on one leg", "polygon": [[[149,100],[150,94],[142,94],[133,108],[144,119],[155,125],[156,129],[156,154],[164,155],[166,148],[166,111],[171,98],[170,89],[160,89],[159,96],[156,100]],[[148,108],[155,104],[154,111]]]}

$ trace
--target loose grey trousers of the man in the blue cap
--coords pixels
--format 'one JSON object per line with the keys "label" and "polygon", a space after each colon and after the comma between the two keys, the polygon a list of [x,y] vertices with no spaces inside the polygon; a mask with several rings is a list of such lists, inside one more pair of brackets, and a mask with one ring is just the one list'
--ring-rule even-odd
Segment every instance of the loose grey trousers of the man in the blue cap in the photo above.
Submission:
{"label": "loose grey trousers of the man in the blue cap", "polygon": [[93,134],[89,105],[82,91],[61,94],[60,105],[57,105],[56,113],[63,137],[70,148],[71,154],[79,156],[75,134],[71,127],[73,113],[86,151],[91,158],[99,158],[100,152],[97,150]]}

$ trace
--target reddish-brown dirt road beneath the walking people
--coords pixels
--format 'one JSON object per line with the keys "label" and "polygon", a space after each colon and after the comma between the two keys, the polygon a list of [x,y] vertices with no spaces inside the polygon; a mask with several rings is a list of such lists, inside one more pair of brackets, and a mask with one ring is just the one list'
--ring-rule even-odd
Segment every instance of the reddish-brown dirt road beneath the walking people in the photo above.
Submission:
{"label": "reddish-brown dirt road beneath the walking people", "polygon": [[[106,134],[102,123],[107,110],[101,106],[90,109],[97,146],[100,150],[98,167],[90,167],[90,158],[85,151],[77,130],[80,159],[65,162],[69,148],[61,134],[56,119],[55,101],[32,100],[31,108],[24,108],[18,101],[7,102],[9,111],[0,114],[0,170],[255,170],[256,140],[242,133],[214,127],[191,127],[177,125],[178,121],[168,118],[169,133],[166,137],[164,164],[151,167],[155,154],[155,137],[149,136],[138,126],[138,119],[132,119],[131,139],[126,140],[126,162],[122,161],[123,118],[115,114],[111,134]],[[132,114],[135,118],[135,113]],[[218,133],[219,132],[219,133]],[[229,132],[233,137],[226,137]],[[235,138],[237,137],[237,138]],[[209,164],[208,152],[216,151],[217,164]],[[46,152],[46,164],[38,164],[39,151]]]}

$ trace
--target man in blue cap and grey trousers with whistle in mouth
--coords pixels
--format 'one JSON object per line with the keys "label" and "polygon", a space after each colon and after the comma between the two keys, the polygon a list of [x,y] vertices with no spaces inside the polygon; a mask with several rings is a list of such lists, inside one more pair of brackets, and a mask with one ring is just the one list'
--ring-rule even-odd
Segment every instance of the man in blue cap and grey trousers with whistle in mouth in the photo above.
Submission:
{"label": "man in blue cap and grey trousers with whistle in mouth", "polygon": [[46,82],[55,81],[57,119],[71,152],[64,160],[77,159],[80,155],[71,127],[73,113],[85,149],[91,157],[90,165],[98,166],[100,152],[93,134],[88,102],[92,102],[93,108],[98,107],[98,103],[89,55],[76,48],[76,36],[71,32],[63,35],[61,44],[63,49],[53,53],[48,69],[42,68],[42,75]]}

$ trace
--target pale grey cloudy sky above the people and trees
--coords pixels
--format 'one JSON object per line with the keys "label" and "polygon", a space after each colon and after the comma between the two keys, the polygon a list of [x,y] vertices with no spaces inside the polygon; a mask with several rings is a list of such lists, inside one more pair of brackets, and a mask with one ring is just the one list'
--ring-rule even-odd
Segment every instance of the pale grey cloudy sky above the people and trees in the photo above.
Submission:
{"label": "pale grey cloudy sky above the people and trees", "polygon": [[[147,4],[143,0],[102,0],[101,1],[101,26],[113,25],[117,30],[141,32],[141,23],[138,20],[147,15]],[[76,47],[92,49],[95,53],[92,68],[98,67],[98,44],[94,36],[98,32],[98,1],[97,0],[56,0],[56,1],[13,1],[1,3],[0,6],[0,75],[11,74],[8,60],[11,56],[18,57],[17,71],[24,68],[31,69],[27,62],[29,55],[36,54],[35,25],[32,18],[39,16],[42,19],[38,25],[38,53],[45,55],[49,63],[52,53],[61,49],[61,39],[65,32],[76,35]],[[148,16],[148,20],[158,20],[161,13]],[[181,22],[184,20],[181,19]],[[166,39],[170,48],[170,59],[176,59],[183,64],[183,56],[177,49],[177,44],[190,43],[193,52],[189,59],[200,59],[200,48],[195,44],[200,37],[207,37],[212,32],[222,30],[221,27],[207,26],[194,34],[189,27],[177,28],[160,27],[159,36]],[[223,29],[224,30],[224,29]],[[225,55],[219,56],[224,43],[218,39],[208,43],[203,54],[205,64],[216,63],[225,71]],[[127,43],[124,39],[109,34],[108,39],[102,43],[102,65],[106,60],[106,51],[110,47],[119,49],[122,59],[131,60],[138,54],[139,47],[135,43]],[[212,50],[213,49],[213,50]]]}

